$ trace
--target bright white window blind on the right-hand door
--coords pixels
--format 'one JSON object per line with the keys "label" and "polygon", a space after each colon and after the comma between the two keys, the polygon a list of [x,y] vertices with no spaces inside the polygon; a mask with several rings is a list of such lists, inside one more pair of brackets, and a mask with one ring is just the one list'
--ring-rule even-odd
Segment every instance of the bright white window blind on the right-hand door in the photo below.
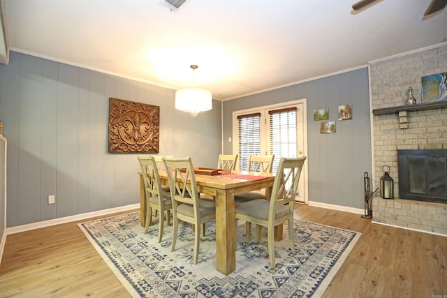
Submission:
{"label": "bright white window blind on the right-hand door", "polygon": [[274,154],[272,172],[277,172],[281,157],[298,153],[296,107],[270,110],[270,153]]}

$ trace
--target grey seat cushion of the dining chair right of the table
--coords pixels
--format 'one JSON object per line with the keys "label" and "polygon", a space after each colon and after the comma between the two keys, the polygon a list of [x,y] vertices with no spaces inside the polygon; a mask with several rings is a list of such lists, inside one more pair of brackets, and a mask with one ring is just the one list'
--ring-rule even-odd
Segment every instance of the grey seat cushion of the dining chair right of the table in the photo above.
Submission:
{"label": "grey seat cushion of the dining chair right of the table", "polygon": [[[253,218],[260,218],[268,221],[268,211],[270,209],[270,201],[268,200],[252,200],[238,204],[235,207],[236,216],[238,213],[245,214]],[[274,211],[274,218],[281,218],[288,215],[288,207],[277,205]]]}

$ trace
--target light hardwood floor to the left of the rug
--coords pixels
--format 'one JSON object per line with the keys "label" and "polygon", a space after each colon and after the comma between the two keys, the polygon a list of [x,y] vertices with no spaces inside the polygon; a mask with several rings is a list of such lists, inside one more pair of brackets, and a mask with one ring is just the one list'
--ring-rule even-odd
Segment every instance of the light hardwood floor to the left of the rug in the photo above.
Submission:
{"label": "light hardwood floor to the left of the rug", "polygon": [[76,225],[85,221],[8,235],[0,297],[131,297]]}

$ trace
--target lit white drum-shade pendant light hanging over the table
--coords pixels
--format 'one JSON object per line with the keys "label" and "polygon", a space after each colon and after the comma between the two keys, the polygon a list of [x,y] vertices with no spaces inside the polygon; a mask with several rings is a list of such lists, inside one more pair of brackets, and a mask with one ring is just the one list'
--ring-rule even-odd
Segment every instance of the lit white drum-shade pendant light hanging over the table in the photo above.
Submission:
{"label": "lit white drum-shade pendant light hanging over the table", "polygon": [[[196,84],[196,69],[198,66],[189,66],[193,69],[194,84]],[[175,91],[175,108],[191,113],[196,117],[198,113],[212,109],[211,92],[205,89],[186,88]]]}

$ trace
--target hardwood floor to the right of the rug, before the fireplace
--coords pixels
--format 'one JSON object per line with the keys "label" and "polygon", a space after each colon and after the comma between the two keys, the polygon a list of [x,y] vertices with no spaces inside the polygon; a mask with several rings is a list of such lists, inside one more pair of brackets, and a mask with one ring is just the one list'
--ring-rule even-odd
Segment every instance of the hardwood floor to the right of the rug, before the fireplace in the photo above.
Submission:
{"label": "hardwood floor to the right of the rug, before the fireplace", "polygon": [[298,219],[362,232],[323,297],[447,296],[447,237],[330,209],[300,205],[295,210]]}

